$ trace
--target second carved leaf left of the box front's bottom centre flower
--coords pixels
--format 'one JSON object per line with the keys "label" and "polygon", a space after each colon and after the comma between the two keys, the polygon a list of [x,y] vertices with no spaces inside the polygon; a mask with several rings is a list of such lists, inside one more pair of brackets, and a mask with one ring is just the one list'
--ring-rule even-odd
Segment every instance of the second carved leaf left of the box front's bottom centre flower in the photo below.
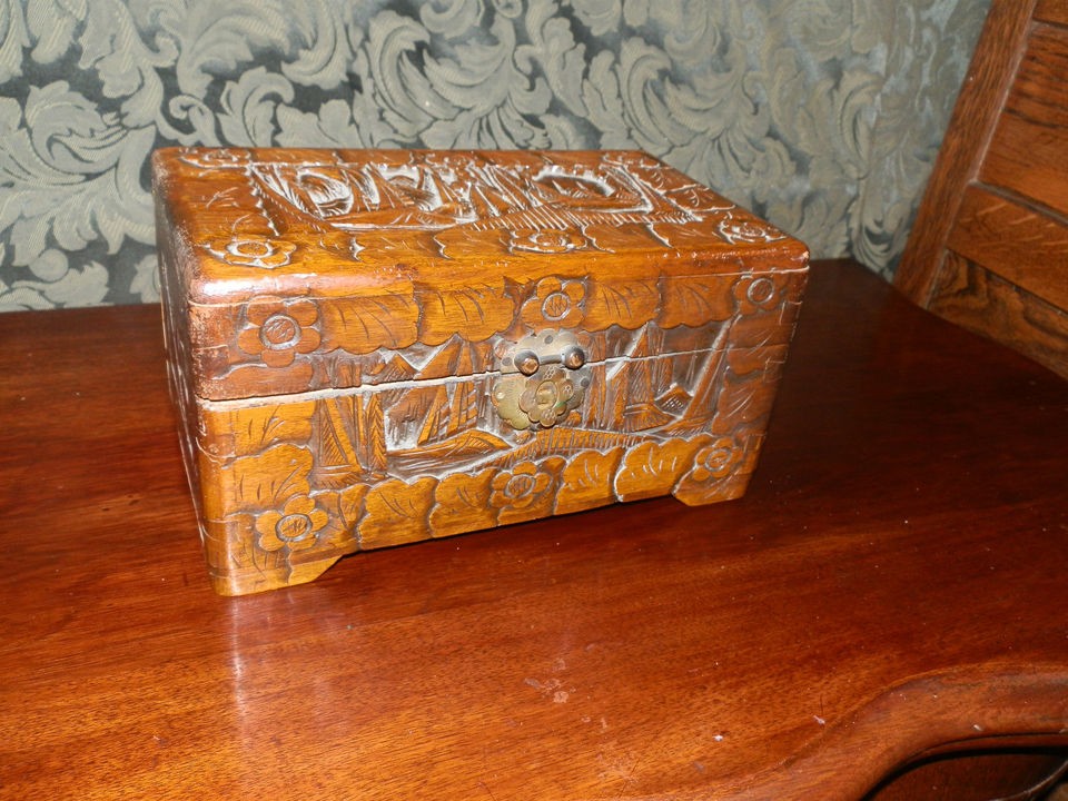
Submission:
{"label": "second carved leaf left of the box front's bottom centre flower", "polygon": [[393,478],[367,493],[359,543],[364,548],[425,540],[437,479],[426,476],[412,484]]}

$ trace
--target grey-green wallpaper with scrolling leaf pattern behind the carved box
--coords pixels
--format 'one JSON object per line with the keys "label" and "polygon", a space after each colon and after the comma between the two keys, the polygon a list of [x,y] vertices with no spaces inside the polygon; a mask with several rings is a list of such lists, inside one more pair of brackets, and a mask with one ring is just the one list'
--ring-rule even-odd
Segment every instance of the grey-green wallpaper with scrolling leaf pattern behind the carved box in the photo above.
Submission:
{"label": "grey-green wallpaper with scrolling leaf pattern behind the carved box", "polygon": [[158,297],[165,145],[642,148],[889,274],[989,0],[0,0],[0,309]]}

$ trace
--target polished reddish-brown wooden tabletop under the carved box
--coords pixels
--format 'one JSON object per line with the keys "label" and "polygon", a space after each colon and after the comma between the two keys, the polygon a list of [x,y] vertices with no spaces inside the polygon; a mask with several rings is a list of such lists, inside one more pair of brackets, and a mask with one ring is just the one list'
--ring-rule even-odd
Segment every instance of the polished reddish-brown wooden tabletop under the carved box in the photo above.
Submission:
{"label": "polished reddish-brown wooden tabletop under the carved box", "polygon": [[1068,745],[1068,384],[813,267],[748,495],[207,581],[155,307],[0,315],[0,797],[858,799]]}

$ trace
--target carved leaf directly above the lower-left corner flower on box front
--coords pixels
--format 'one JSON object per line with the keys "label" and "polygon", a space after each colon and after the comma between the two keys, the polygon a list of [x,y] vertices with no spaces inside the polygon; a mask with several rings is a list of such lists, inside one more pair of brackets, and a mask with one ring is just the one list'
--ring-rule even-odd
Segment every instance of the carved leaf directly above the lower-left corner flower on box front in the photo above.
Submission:
{"label": "carved leaf directly above the lower-left corner flower on box front", "polygon": [[308,493],[310,472],[312,452],[296,445],[277,445],[243,456],[219,471],[225,510],[206,508],[205,512],[215,517],[229,511],[280,507],[294,495]]}

